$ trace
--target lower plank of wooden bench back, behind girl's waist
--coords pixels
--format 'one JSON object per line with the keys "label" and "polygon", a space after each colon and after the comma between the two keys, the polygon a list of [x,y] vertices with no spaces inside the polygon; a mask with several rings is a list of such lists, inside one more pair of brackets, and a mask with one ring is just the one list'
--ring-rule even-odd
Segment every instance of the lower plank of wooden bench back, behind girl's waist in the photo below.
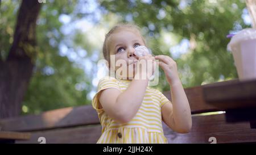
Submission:
{"label": "lower plank of wooden bench back, behind girl's waist", "polygon": [[[217,143],[256,142],[256,129],[250,129],[250,123],[226,123],[225,115],[193,116],[191,132],[186,134],[173,132],[163,123],[164,135],[168,143],[210,143],[210,137],[216,137]],[[101,135],[101,125],[52,129],[32,132],[30,141],[16,143],[39,143],[39,137],[46,137],[46,143],[96,143]]]}

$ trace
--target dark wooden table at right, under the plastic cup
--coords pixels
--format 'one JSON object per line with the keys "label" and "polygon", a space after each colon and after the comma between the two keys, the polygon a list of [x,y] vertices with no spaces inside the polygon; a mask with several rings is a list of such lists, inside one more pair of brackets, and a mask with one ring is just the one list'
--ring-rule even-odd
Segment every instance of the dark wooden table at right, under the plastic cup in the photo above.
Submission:
{"label": "dark wooden table at right, under the plastic cup", "polygon": [[226,122],[249,121],[256,128],[256,79],[203,86],[206,103],[225,111]]}

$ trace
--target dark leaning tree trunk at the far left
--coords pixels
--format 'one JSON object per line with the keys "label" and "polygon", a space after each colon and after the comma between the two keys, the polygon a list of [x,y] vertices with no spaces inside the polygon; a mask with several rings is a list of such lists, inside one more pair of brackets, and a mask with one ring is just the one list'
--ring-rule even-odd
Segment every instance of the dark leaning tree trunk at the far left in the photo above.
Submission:
{"label": "dark leaning tree trunk at the far left", "polygon": [[5,61],[0,59],[0,118],[20,114],[21,103],[32,76],[36,47],[36,19],[40,3],[23,0],[18,13],[14,41]]}

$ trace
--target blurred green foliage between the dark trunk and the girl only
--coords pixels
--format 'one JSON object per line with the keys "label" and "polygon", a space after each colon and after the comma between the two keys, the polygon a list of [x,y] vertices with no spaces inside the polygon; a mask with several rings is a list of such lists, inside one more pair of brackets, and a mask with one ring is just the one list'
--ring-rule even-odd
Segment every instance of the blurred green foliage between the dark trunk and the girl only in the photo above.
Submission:
{"label": "blurred green foliage between the dark trunk and the girl only", "polygon": [[[84,69],[61,55],[61,44],[67,53],[77,51],[76,35],[65,35],[61,28],[60,16],[72,16],[71,23],[79,19],[80,12],[74,13],[78,1],[47,1],[39,14],[37,39],[40,51],[35,60],[34,74],[23,100],[23,113],[39,114],[55,108],[79,106],[90,103],[86,95],[90,91],[91,78]],[[86,48],[90,48],[89,45]]]}

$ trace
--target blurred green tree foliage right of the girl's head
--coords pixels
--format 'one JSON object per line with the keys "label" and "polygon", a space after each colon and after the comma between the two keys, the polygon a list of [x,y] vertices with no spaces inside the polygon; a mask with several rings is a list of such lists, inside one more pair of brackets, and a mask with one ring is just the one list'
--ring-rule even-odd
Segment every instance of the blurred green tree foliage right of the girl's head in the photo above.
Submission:
{"label": "blurred green tree foliage right of the girl's head", "polygon": [[[172,57],[170,49],[174,44],[164,43],[163,35],[166,33],[174,34],[178,42],[188,40],[188,52],[173,57],[185,87],[237,78],[232,54],[226,51],[229,41],[226,35],[230,31],[249,27],[241,18],[246,7],[244,1],[100,2],[108,13],[113,12],[121,16],[120,22],[131,22],[141,26],[144,34],[148,34],[148,46],[155,55]],[[163,81],[163,74],[160,81]],[[158,87],[163,90],[169,89],[166,82],[160,82]]]}

